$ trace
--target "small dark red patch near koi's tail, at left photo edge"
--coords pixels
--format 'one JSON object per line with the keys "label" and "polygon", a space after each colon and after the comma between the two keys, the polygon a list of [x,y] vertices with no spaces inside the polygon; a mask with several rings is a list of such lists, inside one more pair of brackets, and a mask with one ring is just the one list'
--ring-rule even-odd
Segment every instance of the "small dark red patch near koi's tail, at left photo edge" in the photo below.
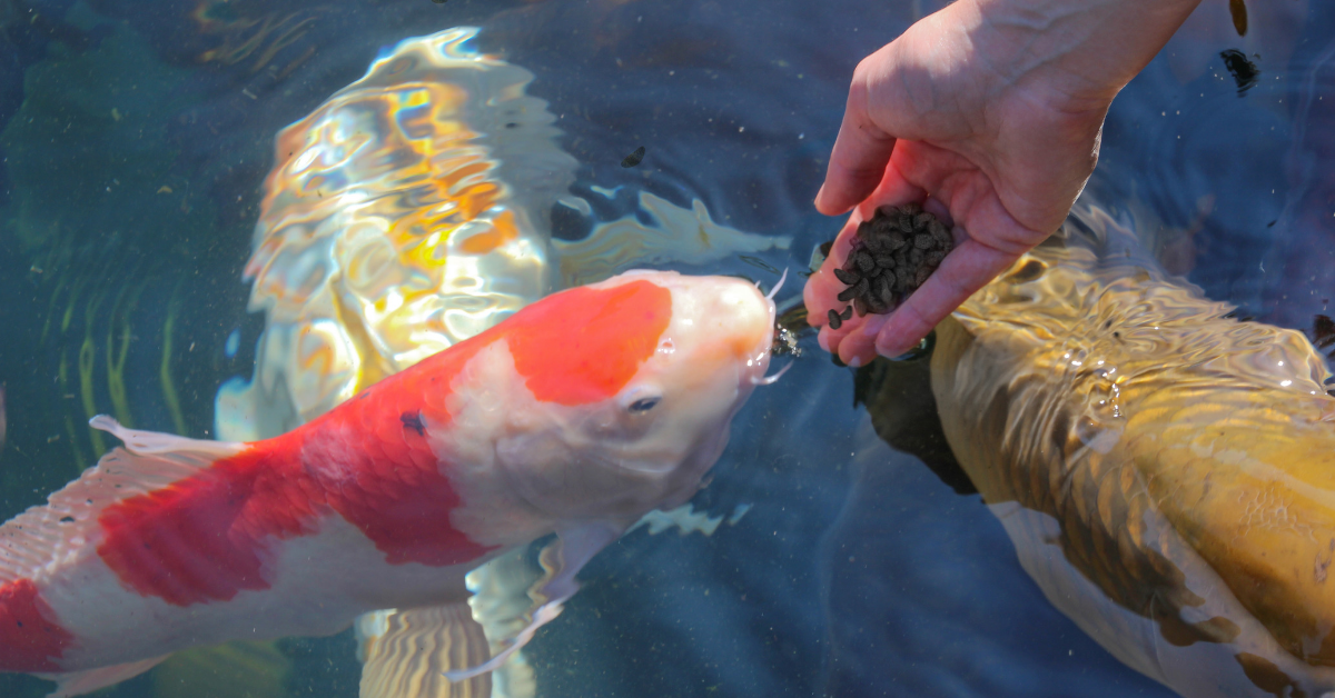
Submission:
{"label": "small dark red patch near koi's tail, at left photo edge", "polygon": [[75,637],[53,615],[32,579],[0,585],[0,671],[60,670],[55,661]]}

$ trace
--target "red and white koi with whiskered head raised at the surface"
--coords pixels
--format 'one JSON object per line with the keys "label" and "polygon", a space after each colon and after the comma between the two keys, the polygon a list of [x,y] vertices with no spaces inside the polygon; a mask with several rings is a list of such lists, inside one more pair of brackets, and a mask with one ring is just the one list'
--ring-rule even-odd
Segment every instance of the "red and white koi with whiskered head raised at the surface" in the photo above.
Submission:
{"label": "red and white koi with whiskered head raised at the surface", "polygon": [[[585,562],[698,490],[765,382],[773,323],[748,282],[637,271],[547,296],[272,439],[97,416],[124,447],[0,527],[0,670],[76,695],[187,647],[431,606],[378,662],[438,661],[415,649],[435,638],[485,662],[451,674],[483,691]],[[487,661],[465,575],[550,533],[546,603]]]}

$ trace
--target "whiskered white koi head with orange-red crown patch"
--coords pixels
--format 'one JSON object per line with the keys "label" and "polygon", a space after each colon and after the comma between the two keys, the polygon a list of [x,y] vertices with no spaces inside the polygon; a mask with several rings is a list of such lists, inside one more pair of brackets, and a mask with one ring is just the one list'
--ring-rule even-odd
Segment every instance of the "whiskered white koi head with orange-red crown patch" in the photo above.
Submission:
{"label": "whiskered white koi head with orange-red crown patch", "polygon": [[724,276],[633,271],[506,323],[525,390],[498,464],[545,515],[629,523],[689,499],[769,367],[774,303]]}

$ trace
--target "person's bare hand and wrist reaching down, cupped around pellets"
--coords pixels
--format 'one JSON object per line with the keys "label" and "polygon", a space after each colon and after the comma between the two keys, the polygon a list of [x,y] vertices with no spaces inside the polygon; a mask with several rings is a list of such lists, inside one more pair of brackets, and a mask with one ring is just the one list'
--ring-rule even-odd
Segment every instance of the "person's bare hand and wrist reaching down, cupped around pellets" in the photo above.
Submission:
{"label": "person's bare hand and wrist reaching down, cupped around pellets", "polygon": [[[825,215],[852,210],[804,292],[821,347],[850,366],[904,354],[1056,231],[1112,99],[1199,3],[959,0],[864,59],[816,196]],[[953,224],[955,250],[892,314],[826,327],[846,306],[833,270],[858,223],[924,200]]]}

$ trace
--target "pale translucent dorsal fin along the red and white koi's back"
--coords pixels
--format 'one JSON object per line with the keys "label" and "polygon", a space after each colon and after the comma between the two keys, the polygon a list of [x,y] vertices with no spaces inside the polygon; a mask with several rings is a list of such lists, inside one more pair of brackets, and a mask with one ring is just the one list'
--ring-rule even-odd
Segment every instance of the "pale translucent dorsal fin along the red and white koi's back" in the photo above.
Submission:
{"label": "pale translucent dorsal fin along the red and white koi's back", "polygon": [[103,455],[44,506],[0,526],[0,586],[31,579],[52,561],[96,546],[101,537],[97,516],[107,507],[188,478],[246,448],[243,443],[129,430],[107,415],[92,418],[89,424],[125,446]]}

